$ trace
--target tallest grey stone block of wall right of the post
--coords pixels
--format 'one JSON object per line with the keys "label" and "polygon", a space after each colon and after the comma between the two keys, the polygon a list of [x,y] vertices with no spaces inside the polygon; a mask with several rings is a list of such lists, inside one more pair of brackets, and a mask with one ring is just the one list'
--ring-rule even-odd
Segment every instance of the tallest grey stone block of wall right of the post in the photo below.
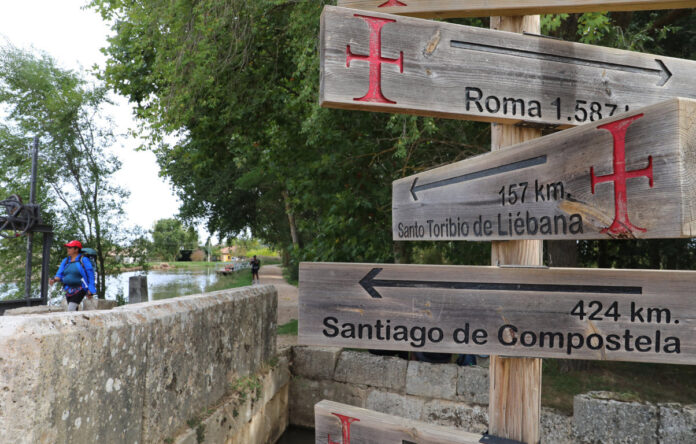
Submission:
{"label": "tallest grey stone block of wall right of the post", "polygon": [[623,402],[618,394],[590,392],[573,400],[573,433],[581,443],[649,444],[658,441],[658,408]]}

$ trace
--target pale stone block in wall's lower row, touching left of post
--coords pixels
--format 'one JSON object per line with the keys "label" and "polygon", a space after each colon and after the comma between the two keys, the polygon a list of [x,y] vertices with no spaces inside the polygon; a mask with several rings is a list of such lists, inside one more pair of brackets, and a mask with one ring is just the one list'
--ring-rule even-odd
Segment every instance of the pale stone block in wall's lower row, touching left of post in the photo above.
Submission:
{"label": "pale stone block in wall's lower row, touching left of post", "polygon": [[488,430],[488,408],[433,399],[423,407],[421,420],[471,433],[483,433]]}

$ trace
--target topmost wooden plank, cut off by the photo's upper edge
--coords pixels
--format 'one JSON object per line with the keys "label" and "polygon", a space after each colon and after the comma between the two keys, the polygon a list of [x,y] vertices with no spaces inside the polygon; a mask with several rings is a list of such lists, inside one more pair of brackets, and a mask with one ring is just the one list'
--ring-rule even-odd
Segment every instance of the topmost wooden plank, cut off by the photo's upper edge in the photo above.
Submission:
{"label": "topmost wooden plank, cut off by the photo's upper edge", "polygon": [[694,8],[693,0],[338,0],[338,6],[421,18]]}

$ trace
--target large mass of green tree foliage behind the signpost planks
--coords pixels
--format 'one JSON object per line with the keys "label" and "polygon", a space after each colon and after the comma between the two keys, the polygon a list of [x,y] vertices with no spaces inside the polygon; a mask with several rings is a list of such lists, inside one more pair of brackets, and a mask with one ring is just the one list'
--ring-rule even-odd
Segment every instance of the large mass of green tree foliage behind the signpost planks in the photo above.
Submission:
{"label": "large mass of green tree foliage behind the signpost planks", "polygon": [[[329,3],[93,0],[114,20],[103,78],[136,105],[181,216],[223,237],[251,229],[282,250],[291,280],[305,260],[489,263],[487,244],[391,238],[391,182],[487,151],[489,125],[320,108],[317,35]],[[693,21],[644,11],[546,16],[543,26],[690,58]]]}

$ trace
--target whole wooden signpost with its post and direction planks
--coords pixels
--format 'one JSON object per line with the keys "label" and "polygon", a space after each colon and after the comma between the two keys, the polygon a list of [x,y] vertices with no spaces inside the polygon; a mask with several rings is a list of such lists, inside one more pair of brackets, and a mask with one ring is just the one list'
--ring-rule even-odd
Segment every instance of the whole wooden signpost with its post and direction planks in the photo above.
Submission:
{"label": "whole wooden signpost with its post and direction planks", "polygon": [[[542,263],[541,240],[518,239],[691,236],[694,102],[640,108],[696,98],[696,62],[548,39],[535,35],[538,15],[502,15],[696,2],[339,6],[358,9],[326,7],[322,14],[323,106],[489,121],[493,151],[520,144],[395,182],[394,239],[492,240],[494,264],[533,266]],[[500,15],[491,17],[494,30],[403,17],[489,14]],[[515,34],[523,32],[532,35]],[[585,123],[531,142],[541,127]],[[694,273],[659,271],[303,264],[299,340],[532,356],[491,355],[489,431],[537,443],[536,357],[696,364],[696,309],[689,303],[695,280]],[[328,442],[349,444],[346,428],[359,418],[331,409],[321,413],[335,417],[327,433],[340,432],[342,440]],[[325,442],[321,415],[317,442]],[[375,432],[361,436],[354,444],[373,442]],[[402,435],[395,436],[398,443]]]}

